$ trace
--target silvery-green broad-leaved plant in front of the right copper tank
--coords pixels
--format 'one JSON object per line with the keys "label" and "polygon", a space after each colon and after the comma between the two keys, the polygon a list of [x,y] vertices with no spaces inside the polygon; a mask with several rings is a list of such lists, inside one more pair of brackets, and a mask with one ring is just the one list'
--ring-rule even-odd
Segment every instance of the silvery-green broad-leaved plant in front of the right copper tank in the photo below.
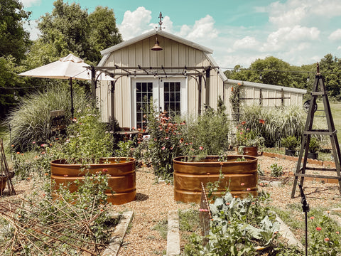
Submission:
{"label": "silvery-green broad-leaved plant in front of the right copper tank", "polygon": [[256,255],[256,247],[274,246],[279,224],[269,211],[269,194],[241,200],[227,192],[210,209],[210,234],[192,235],[185,247],[187,255]]}

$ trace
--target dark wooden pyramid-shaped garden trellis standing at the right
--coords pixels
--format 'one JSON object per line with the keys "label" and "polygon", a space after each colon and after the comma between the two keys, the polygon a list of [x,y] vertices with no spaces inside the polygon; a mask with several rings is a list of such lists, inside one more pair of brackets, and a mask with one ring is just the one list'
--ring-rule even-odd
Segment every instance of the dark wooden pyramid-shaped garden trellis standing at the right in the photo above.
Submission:
{"label": "dark wooden pyramid-shaped garden trellis standing at the right", "polygon": [[[325,109],[325,117],[327,119],[328,129],[313,129],[313,120],[315,110],[317,108],[316,100],[318,97],[322,97],[323,105]],[[310,105],[308,109],[307,121],[305,122],[305,129],[302,135],[301,150],[298,156],[298,163],[296,167],[295,180],[293,182],[293,191],[291,192],[291,198],[294,198],[298,177],[301,178],[301,185],[303,186],[304,177],[313,178],[331,178],[337,179],[339,181],[339,190],[341,195],[341,175],[340,175],[340,146],[337,142],[336,130],[334,126],[334,121],[332,120],[332,112],[330,111],[330,104],[328,100],[328,92],[325,90],[325,82],[323,76],[320,74],[319,66],[318,72],[315,75],[315,82],[313,85],[313,91],[311,92]],[[310,143],[310,137],[312,135],[324,135],[330,137],[330,142],[332,144],[332,155],[334,156],[335,169],[331,168],[313,168],[307,167],[308,159],[308,149]],[[304,152],[304,156],[303,156]],[[303,164],[302,164],[303,160]],[[315,175],[315,174],[305,174],[306,170],[310,171],[336,171],[337,176],[325,176],[325,175]]]}

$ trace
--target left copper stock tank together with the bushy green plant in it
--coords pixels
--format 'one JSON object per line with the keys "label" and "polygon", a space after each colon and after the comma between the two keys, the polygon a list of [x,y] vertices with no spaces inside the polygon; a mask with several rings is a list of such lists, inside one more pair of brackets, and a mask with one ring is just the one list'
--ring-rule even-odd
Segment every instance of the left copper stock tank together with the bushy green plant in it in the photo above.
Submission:
{"label": "left copper stock tank together with the bushy green plant in it", "polygon": [[50,162],[53,196],[60,186],[77,191],[86,176],[107,176],[107,201],[122,204],[136,198],[135,159],[112,157],[111,132],[99,122],[94,110],[72,119],[67,127],[67,137],[58,139],[52,146],[42,146],[53,157]]}

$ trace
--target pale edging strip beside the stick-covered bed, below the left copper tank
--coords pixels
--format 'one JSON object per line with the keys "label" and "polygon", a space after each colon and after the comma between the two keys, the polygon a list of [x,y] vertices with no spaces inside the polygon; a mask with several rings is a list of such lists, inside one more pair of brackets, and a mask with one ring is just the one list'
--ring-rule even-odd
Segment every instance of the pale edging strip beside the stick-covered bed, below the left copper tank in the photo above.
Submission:
{"label": "pale edging strip beside the stick-covered bed, below the left copper tank", "polygon": [[126,230],[128,229],[132,218],[132,211],[127,211],[122,214],[119,224],[112,233],[112,238],[109,241],[108,247],[104,250],[104,252],[102,252],[102,256],[117,256],[119,248],[123,242],[124,235],[126,235]]}

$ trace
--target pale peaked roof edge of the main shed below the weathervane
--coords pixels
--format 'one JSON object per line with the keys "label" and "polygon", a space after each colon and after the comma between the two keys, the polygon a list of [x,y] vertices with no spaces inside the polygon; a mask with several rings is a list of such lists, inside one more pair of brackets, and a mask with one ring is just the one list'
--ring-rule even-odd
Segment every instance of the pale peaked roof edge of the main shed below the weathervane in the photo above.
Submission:
{"label": "pale peaked roof edge of the main shed below the weathervane", "polygon": [[129,45],[131,45],[133,43],[137,43],[137,42],[142,41],[142,40],[144,40],[144,39],[146,39],[148,37],[156,36],[156,35],[160,35],[160,36],[163,36],[165,38],[169,38],[169,39],[171,39],[173,41],[177,41],[179,43],[183,43],[186,46],[190,46],[190,47],[196,48],[198,50],[202,50],[204,53],[209,53],[209,54],[213,53],[213,50],[211,50],[210,48],[207,48],[205,46],[200,46],[197,43],[193,43],[192,41],[188,41],[188,40],[186,40],[184,38],[180,38],[179,36],[175,36],[175,35],[173,35],[171,33],[166,32],[166,31],[149,31],[149,32],[144,33],[144,34],[142,34],[140,36],[136,36],[136,37],[131,38],[131,39],[127,40],[127,41],[119,43],[119,44],[117,44],[115,46],[112,46],[112,47],[109,47],[107,49],[104,49],[104,50],[101,51],[101,54],[102,55],[106,55],[108,53],[112,53],[114,50],[119,50],[119,49],[124,48],[126,46],[129,46]]}

